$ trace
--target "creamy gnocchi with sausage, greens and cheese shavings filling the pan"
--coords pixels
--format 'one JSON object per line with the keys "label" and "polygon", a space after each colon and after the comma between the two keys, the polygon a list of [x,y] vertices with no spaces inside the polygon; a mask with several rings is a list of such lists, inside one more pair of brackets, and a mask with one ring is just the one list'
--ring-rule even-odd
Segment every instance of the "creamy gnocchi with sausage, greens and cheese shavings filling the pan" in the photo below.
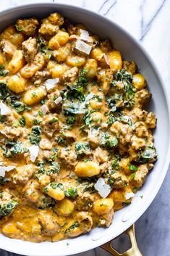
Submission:
{"label": "creamy gnocchi with sausage, greens and cheese shavings filling the pan", "polygon": [[1,233],[58,241],[109,227],[156,161],[135,62],[59,13],[0,36]]}

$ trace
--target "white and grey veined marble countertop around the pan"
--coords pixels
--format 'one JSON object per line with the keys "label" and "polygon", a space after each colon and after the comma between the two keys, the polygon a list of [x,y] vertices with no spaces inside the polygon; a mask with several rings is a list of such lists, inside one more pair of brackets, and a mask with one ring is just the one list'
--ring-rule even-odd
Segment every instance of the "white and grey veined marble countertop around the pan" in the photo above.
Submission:
{"label": "white and grey veined marble countertop around the pan", "polygon": [[[44,0],[0,0],[0,11],[20,4]],[[85,7],[114,20],[134,36],[152,57],[170,92],[170,0],[45,0]],[[135,224],[137,244],[143,256],[170,256],[170,173],[156,199]],[[122,237],[117,246],[127,241]],[[0,249],[1,256],[16,256]],[[77,256],[109,256],[96,248]]]}

